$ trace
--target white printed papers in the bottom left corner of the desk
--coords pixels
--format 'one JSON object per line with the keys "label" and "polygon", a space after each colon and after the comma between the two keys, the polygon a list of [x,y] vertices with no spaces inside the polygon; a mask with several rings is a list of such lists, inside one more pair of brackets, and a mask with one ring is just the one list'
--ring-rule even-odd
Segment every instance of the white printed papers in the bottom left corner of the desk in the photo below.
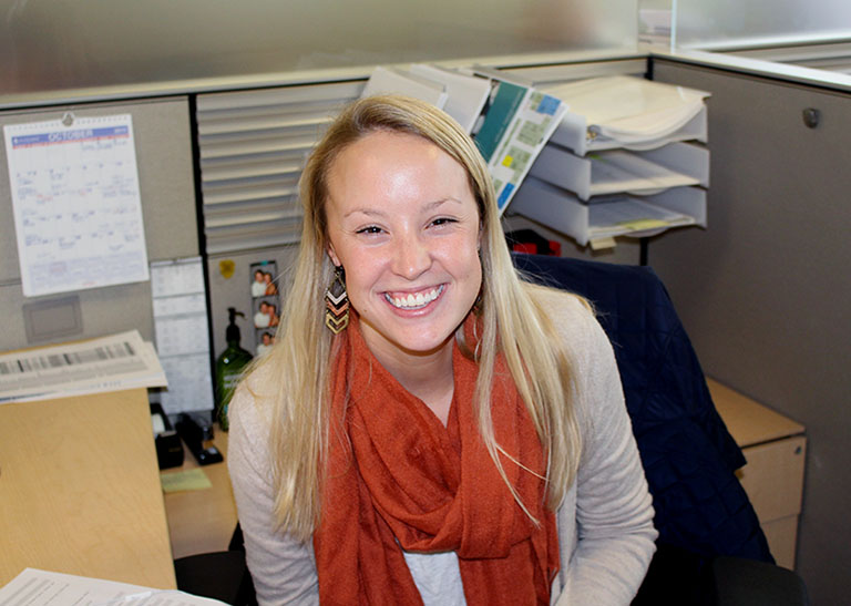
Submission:
{"label": "white printed papers in the bottom left corner of the desk", "polygon": [[3,606],[213,606],[216,599],[174,589],[151,589],[127,583],[102,581],[24,568],[0,588]]}

